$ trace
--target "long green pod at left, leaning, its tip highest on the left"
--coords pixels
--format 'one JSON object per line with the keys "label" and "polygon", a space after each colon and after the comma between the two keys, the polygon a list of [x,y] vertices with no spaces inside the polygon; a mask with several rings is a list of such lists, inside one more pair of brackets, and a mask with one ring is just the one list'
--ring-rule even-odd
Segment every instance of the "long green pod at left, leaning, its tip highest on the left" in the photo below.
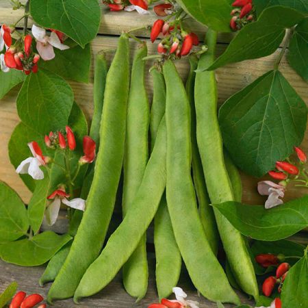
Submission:
{"label": "long green pod at left, leaning, its tip highest on the left", "polygon": [[48,294],[54,299],[74,295],[88,266],[97,258],[110,224],[120,180],[125,149],[127,101],[129,97],[129,39],[122,34],[107,73],[100,146],[86,211],[70,253]]}

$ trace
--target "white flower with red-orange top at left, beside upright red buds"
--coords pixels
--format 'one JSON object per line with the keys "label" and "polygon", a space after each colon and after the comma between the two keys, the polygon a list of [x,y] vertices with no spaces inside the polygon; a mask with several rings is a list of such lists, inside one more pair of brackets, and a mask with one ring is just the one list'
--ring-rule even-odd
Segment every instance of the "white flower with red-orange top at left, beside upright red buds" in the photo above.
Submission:
{"label": "white flower with red-orange top at left, beside upright red buds", "polygon": [[29,142],[28,146],[31,150],[33,157],[28,157],[16,168],[16,172],[29,174],[33,179],[44,179],[44,172],[40,170],[40,166],[45,165],[45,157],[42,155],[42,150],[37,142]]}

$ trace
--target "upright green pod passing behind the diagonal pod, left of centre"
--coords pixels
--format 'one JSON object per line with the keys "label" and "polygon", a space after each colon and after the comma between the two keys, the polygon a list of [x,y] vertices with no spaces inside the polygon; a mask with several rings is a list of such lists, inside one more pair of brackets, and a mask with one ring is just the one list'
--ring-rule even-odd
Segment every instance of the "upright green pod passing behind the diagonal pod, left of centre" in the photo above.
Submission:
{"label": "upright green pod passing behind the diagonal pod, left of centre", "polygon": [[[146,43],[137,51],[131,68],[131,87],[127,107],[127,127],[124,157],[123,216],[134,207],[133,198],[142,182],[149,159],[149,99],[144,84],[144,66],[148,51]],[[146,234],[136,251],[123,266],[123,284],[127,293],[137,300],[148,288],[149,269],[146,259]]]}

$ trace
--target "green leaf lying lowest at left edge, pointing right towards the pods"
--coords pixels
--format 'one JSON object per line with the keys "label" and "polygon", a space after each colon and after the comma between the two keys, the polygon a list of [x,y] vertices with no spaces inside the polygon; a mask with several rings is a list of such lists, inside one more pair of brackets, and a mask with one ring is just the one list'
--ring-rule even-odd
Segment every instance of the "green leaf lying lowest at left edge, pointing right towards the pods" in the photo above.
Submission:
{"label": "green leaf lying lowest at left edge, pointing right towards the pods", "polygon": [[0,257],[5,262],[19,266],[40,266],[71,239],[68,234],[57,235],[52,231],[44,231],[31,239],[1,244]]}

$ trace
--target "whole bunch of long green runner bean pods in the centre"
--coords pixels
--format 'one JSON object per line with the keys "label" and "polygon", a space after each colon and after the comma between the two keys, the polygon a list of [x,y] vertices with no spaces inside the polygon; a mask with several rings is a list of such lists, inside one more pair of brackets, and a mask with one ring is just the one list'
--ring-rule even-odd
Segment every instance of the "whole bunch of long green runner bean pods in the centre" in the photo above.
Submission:
{"label": "whole bunch of long green runner bean pods in the centre", "polygon": [[[223,151],[214,72],[196,70],[214,61],[216,32],[209,30],[206,40],[207,53],[190,57],[186,86],[170,60],[151,69],[151,111],[144,85],[146,44],[136,52],[131,71],[128,34],[120,36],[109,69],[98,55],[90,133],[99,151],[82,191],[86,211],[82,219],[73,217],[73,244],[55,255],[40,280],[53,281],[49,303],[92,296],[121,268],[125,290],[143,298],[149,277],[146,230],[152,221],[159,298],[177,285],[183,259],[203,296],[240,304],[216,257],[219,239],[238,285],[258,297],[244,238],[209,206],[240,200],[242,186]],[[122,172],[123,220],[106,240]]]}

